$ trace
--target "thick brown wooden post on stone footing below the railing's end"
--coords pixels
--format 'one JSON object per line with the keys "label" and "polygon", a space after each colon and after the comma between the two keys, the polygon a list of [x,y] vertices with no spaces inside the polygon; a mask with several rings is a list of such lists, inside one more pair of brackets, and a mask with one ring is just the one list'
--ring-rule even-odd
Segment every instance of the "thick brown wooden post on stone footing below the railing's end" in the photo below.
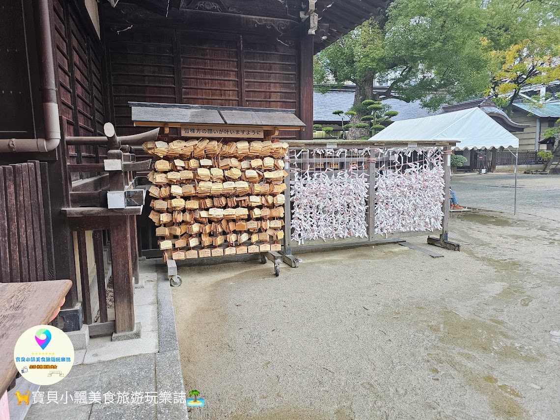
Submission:
{"label": "thick brown wooden post on stone footing below the railing's end", "polygon": [[134,288],[132,284],[129,217],[111,216],[109,226],[115,299],[115,332],[132,332],[134,331]]}

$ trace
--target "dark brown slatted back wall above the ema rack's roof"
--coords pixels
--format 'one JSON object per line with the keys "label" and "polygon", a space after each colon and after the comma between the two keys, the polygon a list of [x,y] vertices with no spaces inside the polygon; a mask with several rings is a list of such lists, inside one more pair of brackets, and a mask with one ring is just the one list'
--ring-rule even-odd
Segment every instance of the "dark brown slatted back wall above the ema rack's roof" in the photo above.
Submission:
{"label": "dark brown slatted back wall above the ema rack's roof", "polygon": [[[106,52],[112,113],[122,134],[142,130],[133,127],[129,101],[299,111],[298,44],[142,26],[120,34],[109,30]],[[286,132],[290,137],[295,134]]]}

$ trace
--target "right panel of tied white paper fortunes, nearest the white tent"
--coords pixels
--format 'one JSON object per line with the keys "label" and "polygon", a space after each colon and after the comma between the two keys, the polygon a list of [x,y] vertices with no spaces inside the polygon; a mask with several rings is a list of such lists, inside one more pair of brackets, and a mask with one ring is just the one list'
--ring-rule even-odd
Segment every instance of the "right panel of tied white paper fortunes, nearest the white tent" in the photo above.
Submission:
{"label": "right panel of tied white paper fortunes, nearest the white tent", "polygon": [[[397,170],[381,168],[375,179],[375,233],[441,229],[445,188],[441,155],[429,152],[420,162],[408,161],[408,151],[395,155]],[[399,165],[399,158],[407,161]]]}

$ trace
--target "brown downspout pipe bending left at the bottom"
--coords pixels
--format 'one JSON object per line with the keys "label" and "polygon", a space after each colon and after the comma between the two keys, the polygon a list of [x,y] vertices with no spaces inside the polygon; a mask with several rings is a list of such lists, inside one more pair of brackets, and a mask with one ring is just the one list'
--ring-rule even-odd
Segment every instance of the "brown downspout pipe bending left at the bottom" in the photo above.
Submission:
{"label": "brown downspout pipe bending left at the bottom", "polygon": [[53,41],[50,35],[49,2],[48,0],[36,0],[34,6],[45,138],[0,139],[0,152],[49,152],[57,148],[60,143]]}

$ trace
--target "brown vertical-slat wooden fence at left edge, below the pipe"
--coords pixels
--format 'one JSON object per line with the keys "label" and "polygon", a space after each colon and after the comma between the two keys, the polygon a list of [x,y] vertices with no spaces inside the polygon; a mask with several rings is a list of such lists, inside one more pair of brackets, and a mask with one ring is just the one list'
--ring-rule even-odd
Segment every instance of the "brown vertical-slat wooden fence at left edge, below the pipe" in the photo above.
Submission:
{"label": "brown vertical-slat wooden fence at left edge, below the pipe", "polygon": [[[3,283],[54,279],[46,163],[0,166],[0,273]],[[46,197],[46,201],[45,201]]]}

